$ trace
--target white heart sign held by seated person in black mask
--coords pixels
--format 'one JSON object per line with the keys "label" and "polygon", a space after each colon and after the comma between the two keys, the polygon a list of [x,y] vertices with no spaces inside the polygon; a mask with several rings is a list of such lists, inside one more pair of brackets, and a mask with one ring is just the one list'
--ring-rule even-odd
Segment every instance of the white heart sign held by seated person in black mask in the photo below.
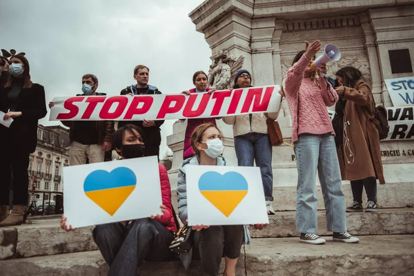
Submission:
{"label": "white heart sign held by seated person in black mask", "polygon": [[72,227],[162,215],[157,157],[63,168],[63,207]]}

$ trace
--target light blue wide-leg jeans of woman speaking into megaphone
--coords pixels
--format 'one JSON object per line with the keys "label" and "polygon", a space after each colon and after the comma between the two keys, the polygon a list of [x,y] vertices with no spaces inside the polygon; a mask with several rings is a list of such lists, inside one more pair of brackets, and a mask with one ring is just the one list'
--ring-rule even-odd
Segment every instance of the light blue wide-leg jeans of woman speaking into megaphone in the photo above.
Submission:
{"label": "light blue wide-leg jeans of woman speaking into megaphone", "polygon": [[297,157],[296,230],[317,234],[316,171],[326,209],[326,228],[346,232],[345,197],[333,135],[299,135]]}

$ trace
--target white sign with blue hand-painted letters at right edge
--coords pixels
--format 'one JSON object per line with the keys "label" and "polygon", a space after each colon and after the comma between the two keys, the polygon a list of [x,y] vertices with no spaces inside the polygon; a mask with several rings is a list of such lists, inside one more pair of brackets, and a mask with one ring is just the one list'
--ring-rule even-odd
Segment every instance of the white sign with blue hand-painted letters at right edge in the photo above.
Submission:
{"label": "white sign with blue hand-painted letters at right edge", "polygon": [[395,107],[414,106],[414,77],[386,79],[385,83]]}

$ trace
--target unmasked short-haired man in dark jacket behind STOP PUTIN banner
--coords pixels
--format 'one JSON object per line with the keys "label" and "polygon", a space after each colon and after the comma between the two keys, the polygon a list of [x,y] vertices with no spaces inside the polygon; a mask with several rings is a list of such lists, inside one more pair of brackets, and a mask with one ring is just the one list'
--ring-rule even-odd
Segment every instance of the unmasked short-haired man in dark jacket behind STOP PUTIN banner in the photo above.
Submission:
{"label": "unmasked short-haired man in dark jacket behind STOP PUTIN banner", "polygon": [[[127,88],[121,90],[121,95],[156,95],[161,92],[155,86],[148,84],[150,78],[150,69],[144,65],[138,65],[134,68],[134,79],[137,84],[132,84]],[[146,156],[157,156],[159,155],[159,145],[161,145],[161,130],[160,127],[164,124],[164,120],[152,121],[119,121],[118,128],[132,124],[141,128],[144,131],[146,141]]]}

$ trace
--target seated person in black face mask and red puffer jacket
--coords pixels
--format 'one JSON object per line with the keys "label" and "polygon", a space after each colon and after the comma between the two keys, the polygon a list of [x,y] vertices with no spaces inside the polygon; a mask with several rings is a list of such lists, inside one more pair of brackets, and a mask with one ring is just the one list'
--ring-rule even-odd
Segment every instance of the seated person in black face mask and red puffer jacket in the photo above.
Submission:
{"label": "seated person in black face mask and red puffer jacket", "polygon": [[[144,132],[134,125],[119,128],[112,135],[112,145],[122,159],[144,157]],[[166,168],[159,166],[164,215],[132,221],[102,224],[95,227],[93,237],[109,265],[108,275],[137,275],[137,268],[144,260],[164,261],[170,257],[168,246],[177,231],[172,215],[170,181]],[[110,199],[108,199],[110,200]],[[61,219],[61,228],[73,230]]]}

